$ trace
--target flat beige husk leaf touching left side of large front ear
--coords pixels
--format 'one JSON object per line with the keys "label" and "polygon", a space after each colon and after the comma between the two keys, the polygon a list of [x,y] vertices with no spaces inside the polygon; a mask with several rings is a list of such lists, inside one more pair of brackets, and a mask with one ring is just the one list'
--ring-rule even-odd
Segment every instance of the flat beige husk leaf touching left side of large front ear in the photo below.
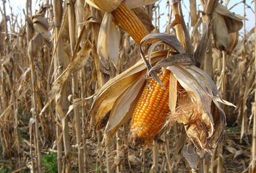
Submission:
{"label": "flat beige husk leaf touching left side of large front ear", "polygon": [[132,117],[132,114],[129,113],[129,109],[132,105],[132,102],[136,99],[139,94],[142,86],[145,84],[145,77],[142,76],[140,79],[134,82],[121,96],[116,99],[116,102],[113,105],[111,114],[109,115],[108,124],[106,126],[107,136],[112,136],[116,130],[123,125]]}

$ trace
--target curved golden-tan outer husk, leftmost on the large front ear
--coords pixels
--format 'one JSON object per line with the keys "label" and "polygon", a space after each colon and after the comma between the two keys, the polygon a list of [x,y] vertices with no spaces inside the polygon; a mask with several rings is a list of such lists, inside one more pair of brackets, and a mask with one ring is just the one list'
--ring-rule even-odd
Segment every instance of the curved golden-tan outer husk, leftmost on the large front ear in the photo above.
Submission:
{"label": "curved golden-tan outer husk, leftmost on the large front ear", "polygon": [[[153,53],[152,62],[155,63],[163,56],[166,55],[166,51]],[[147,67],[143,61],[138,61],[134,66],[127,69],[123,73],[109,80],[98,90],[95,95],[95,100],[90,110],[91,125],[99,125],[101,120],[104,119],[109,110],[112,109],[116,99],[129,87],[134,81],[140,78],[142,74],[145,74],[143,70]]]}

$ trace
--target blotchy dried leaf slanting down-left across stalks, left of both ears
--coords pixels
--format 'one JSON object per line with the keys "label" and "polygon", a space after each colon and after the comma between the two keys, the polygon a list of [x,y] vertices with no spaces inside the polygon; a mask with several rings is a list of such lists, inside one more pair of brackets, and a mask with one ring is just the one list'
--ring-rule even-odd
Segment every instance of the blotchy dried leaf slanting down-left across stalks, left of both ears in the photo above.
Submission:
{"label": "blotchy dried leaf slanting down-left across stalks, left of both ears", "polygon": [[85,46],[74,57],[74,60],[71,63],[69,63],[67,68],[56,79],[56,81],[54,81],[51,91],[48,93],[48,101],[46,102],[46,105],[41,110],[40,115],[46,110],[48,105],[51,104],[56,94],[61,92],[62,86],[64,86],[70,74],[80,70],[82,66],[85,66],[85,63],[87,63],[88,61],[91,49],[92,49],[92,45],[90,45],[90,43],[86,43]]}

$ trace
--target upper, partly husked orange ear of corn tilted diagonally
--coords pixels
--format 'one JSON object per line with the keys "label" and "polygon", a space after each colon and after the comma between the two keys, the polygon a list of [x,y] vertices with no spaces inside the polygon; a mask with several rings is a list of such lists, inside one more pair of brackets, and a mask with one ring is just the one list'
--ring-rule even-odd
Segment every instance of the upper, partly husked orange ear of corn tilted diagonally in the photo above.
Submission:
{"label": "upper, partly husked orange ear of corn tilted diagonally", "polygon": [[112,14],[116,22],[131,35],[136,43],[140,43],[140,40],[148,35],[149,32],[140,19],[123,2]]}

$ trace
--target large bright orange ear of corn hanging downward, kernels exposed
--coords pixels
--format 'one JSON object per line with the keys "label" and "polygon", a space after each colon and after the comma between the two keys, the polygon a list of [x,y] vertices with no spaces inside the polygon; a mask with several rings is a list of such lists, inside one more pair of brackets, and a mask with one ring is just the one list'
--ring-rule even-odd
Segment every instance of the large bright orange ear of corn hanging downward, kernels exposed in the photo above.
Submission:
{"label": "large bright orange ear of corn hanging downward, kernels exposed", "polygon": [[129,140],[133,146],[150,143],[161,130],[169,112],[169,78],[168,70],[160,76],[166,89],[163,89],[154,79],[150,79],[143,89],[132,114]]}

